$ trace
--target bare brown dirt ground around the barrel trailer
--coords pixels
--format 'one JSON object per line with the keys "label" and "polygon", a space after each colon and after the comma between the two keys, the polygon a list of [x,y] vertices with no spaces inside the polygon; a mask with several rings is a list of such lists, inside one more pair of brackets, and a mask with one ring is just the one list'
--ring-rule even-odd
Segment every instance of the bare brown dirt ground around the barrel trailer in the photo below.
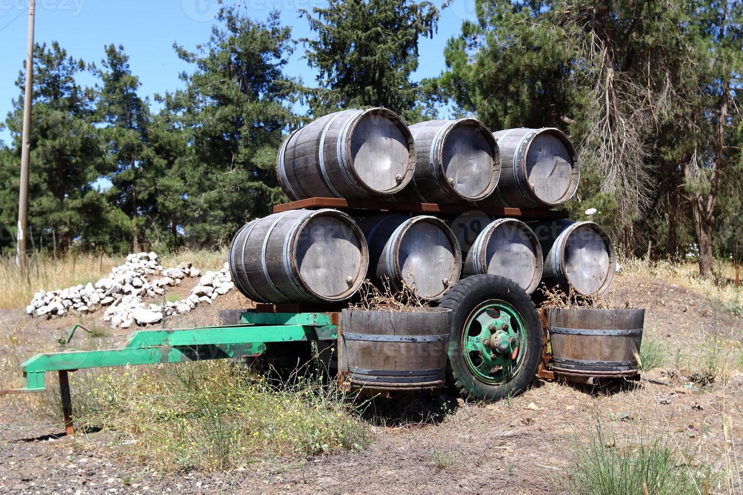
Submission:
{"label": "bare brown dirt ground around the barrel trailer", "polygon": [[[179,288],[184,293],[189,289],[188,284]],[[692,356],[689,362],[707,352],[701,343],[710,335],[743,340],[742,317],[680,286],[618,276],[611,297],[645,307],[646,332],[663,341],[666,349],[680,349],[681,357]],[[245,304],[233,292],[214,306],[166,321],[166,326],[215,324],[217,309]],[[8,371],[33,353],[53,350],[62,335],[57,329],[75,321],[74,317],[33,321],[20,310],[0,312],[4,371],[0,388],[19,386],[17,373]],[[114,347],[127,333],[120,330],[103,341]],[[673,371],[675,357],[669,351],[666,368],[645,377],[651,381],[611,390],[536,381],[531,390],[508,401],[458,401],[455,413],[441,422],[372,426],[371,445],[360,453],[273,459],[229,473],[155,473],[134,464],[127,456],[127,442],[115,433],[64,437],[59,425],[33,416],[23,398],[0,396],[0,493],[567,493],[569,453],[577,436],[585,439],[597,418],[606,421],[617,437],[660,428],[673,443],[692,452],[692,465],[721,468],[724,452],[733,456],[734,445],[743,445],[740,352],[738,348],[729,356],[733,366],[725,380],[704,387],[691,388],[684,372],[679,376]],[[682,368],[692,372],[694,366]],[[727,441],[724,415],[732,421]],[[743,476],[742,462],[743,450],[738,447],[737,459],[732,459],[738,479]],[[727,493],[727,488],[720,491]]]}

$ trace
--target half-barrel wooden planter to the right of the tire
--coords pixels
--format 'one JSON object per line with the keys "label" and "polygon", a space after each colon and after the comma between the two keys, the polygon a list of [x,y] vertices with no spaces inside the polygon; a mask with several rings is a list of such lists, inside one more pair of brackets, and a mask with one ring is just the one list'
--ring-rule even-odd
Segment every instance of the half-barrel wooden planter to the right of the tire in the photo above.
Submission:
{"label": "half-barrel wooden planter to the right of the tire", "polygon": [[567,376],[637,375],[645,309],[550,308],[552,370]]}

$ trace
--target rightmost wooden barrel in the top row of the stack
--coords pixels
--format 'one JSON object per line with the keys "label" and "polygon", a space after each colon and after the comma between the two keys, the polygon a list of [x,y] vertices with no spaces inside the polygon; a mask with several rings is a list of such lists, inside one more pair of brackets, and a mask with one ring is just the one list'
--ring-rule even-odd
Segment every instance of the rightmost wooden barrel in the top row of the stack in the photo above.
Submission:
{"label": "rightmost wooden barrel in the top row of the stack", "polygon": [[506,129],[493,133],[501,152],[501,178],[488,206],[545,208],[575,194],[580,180],[578,157],[559,129]]}

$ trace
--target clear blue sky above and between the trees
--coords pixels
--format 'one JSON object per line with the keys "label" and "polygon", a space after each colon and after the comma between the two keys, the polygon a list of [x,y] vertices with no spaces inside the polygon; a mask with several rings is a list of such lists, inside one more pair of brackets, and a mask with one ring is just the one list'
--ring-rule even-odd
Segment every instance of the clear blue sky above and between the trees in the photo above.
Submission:
{"label": "clear blue sky above and between the trees", "polygon": [[[236,1],[226,0],[234,4]],[[434,0],[436,4],[443,0]],[[266,19],[270,10],[281,13],[283,25],[292,27],[295,39],[310,37],[306,19],[299,9],[322,7],[324,0],[243,0],[239,1],[253,19]],[[25,61],[28,0],[0,0],[0,120],[19,96],[15,86]],[[140,78],[141,94],[150,96],[181,88],[178,73],[190,71],[172,49],[174,42],[193,49],[207,42],[212,19],[218,10],[215,0],[36,0],[36,42],[57,41],[68,55],[85,62],[99,63],[103,47],[124,45],[132,72]],[[441,13],[438,33],[420,42],[421,59],[415,79],[435,76],[444,68],[444,46],[460,32],[463,19],[474,19],[474,0],[455,0]],[[314,83],[315,72],[302,58],[303,47],[291,56],[285,73]],[[82,85],[93,85],[92,76],[81,76]],[[0,140],[10,141],[7,130]]]}

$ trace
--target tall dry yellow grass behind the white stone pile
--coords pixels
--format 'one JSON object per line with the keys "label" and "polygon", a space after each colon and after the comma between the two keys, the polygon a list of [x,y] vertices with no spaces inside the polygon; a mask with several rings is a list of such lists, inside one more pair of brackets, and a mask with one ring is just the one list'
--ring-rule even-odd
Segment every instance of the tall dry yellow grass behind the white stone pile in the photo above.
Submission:
{"label": "tall dry yellow grass behind the white stone pile", "polygon": [[[114,266],[126,260],[125,256],[109,256],[105,253],[66,252],[53,258],[46,253],[29,258],[28,278],[16,266],[14,257],[0,258],[0,284],[9,288],[0,292],[0,309],[18,309],[26,306],[39,289],[53,290],[77,284],[94,283],[106,277]],[[181,261],[191,261],[202,272],[221,269],[227,260],[227,250],[184,250],[163,255],[160,264],[166,268]]]}

